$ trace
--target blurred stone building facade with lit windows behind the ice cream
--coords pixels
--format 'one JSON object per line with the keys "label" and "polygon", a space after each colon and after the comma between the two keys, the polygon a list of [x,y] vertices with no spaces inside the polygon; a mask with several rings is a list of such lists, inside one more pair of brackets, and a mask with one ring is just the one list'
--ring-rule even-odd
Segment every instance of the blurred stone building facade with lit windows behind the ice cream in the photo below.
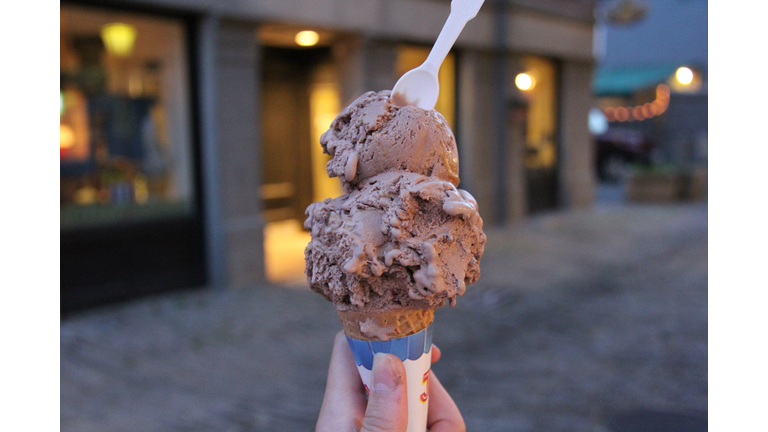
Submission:
{"label": "blurred stone building facade with lit windows behind the ice cream", "polygon": [[[62,310],[265,280],[265,232],[341,193],[319,135],[418,66],[449,10],[62,2]],[[593,24],[591,0],[488,0],[444,63],[436,109],[487,224],[593,202]]]}

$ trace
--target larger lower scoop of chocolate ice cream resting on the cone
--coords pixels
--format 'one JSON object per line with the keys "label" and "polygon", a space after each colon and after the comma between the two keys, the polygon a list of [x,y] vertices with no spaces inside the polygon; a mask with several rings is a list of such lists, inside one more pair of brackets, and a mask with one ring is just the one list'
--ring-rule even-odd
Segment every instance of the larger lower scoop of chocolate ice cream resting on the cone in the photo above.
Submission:
{"label": "larger lower scoop of chocolate ice cream resting on the cone", "polygon": [[480,276],[477,202],[450,182],[386,172],[310,205],[310,287],[338,310],[435,309]]}

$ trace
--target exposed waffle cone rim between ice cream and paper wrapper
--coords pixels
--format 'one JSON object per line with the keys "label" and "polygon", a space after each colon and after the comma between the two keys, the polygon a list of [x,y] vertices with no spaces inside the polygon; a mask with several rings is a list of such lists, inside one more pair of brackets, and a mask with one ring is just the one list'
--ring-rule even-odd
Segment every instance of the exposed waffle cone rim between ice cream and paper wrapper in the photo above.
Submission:
{"label": "exposed waffle cone rim between ice cream and paper wrapper", "polygon": [[435,314],[433,309],[395,309],[384,312],[337,310],[336,312],[347,336],[367,341],[383,341],[418,333],[432,323]]}

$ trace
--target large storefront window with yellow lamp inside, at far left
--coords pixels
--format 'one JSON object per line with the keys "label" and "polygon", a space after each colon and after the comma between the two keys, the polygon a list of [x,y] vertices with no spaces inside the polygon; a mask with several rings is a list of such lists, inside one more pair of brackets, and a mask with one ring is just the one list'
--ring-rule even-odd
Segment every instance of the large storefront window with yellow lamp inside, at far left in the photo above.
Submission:
{"label": "large storefront window with yellow lamp inside, at far left", "polygon": [[182,22],[61,7],[61,228],[195,212]]}

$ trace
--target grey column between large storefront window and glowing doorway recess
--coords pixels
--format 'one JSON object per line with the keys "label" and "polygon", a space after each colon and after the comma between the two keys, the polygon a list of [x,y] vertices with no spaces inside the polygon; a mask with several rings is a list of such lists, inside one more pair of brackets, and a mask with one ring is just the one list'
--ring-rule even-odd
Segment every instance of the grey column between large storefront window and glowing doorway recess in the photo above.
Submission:
{"label": "grey column between large storefront window and glowing doorway recess", "polygon": [[264,273],[259,66],[253,25],[203,25],[204,179],[209,262],[217,286],[244,287]]}

